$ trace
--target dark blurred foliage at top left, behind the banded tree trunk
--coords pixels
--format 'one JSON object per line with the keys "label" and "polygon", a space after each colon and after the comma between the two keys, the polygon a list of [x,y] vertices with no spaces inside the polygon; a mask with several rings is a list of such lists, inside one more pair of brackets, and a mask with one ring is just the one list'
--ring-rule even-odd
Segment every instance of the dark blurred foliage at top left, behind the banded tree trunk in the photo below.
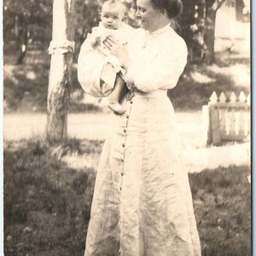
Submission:
{"label": "dark blurred foliage at top left, behind the banded tree trunk", "polygon": [[[76,53],[79,52],[88,32],[99,22],[102,0],[76,0],[74,25]],[[127,2],[131,8],[131,3]],[[10,19],[11,18],[11,19]],[[3,38],[6,44],[15,42],[15,49],[21,44],[35,45],[47,49],[52,31],[52,0],[4,0]],[[75,60],[77,55],[75,55]]]}

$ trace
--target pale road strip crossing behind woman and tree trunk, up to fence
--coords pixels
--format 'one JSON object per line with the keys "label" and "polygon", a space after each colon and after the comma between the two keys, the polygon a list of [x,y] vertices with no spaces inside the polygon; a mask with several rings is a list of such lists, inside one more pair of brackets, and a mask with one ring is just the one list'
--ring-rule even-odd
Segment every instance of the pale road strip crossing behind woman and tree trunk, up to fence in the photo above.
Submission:
{"label": "pale road strip crossing behind woman and tree trunk, up to fence", "polygon": [[[67,130],[70,137],[79,139],[104,139],[109,126],[109,113],[69,114]],[[201,112],[177,113],[179,131],[188,144],[202,146]],[[6,140],[20,140],[44,135],[45,113],[10,113],[3,117],[3,137]]]}

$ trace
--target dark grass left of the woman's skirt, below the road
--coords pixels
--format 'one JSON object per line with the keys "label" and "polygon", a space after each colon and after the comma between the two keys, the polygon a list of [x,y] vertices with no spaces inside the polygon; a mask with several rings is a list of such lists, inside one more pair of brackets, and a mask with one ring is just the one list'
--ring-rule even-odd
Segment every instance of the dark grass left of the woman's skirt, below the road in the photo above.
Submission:
{"label": "dark grass left of the woman's skirt, below the road", "polygon": [[5,146],[5,255],[83,255],[96,172],[68,168],[61,156],[101,149],[75,139],[57,149],[43,141]]}

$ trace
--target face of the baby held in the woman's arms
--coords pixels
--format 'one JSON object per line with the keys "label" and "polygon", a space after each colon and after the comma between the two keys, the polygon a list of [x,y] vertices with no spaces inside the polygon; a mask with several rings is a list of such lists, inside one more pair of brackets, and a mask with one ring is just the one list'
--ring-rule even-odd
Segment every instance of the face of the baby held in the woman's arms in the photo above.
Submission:
{"label": "face of the baby held in the woman's arms", "polygon": [[122,23],[123,17],[124,15],[118,5],[102,7],[102,25],[106,28],[118,29]]}

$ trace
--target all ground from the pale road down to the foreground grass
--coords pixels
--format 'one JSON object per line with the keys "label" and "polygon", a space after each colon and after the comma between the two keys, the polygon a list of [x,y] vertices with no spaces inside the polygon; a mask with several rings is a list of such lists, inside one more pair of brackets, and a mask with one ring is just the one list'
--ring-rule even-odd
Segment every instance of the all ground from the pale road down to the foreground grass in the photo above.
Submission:
{"label": "all ground from the pale road down to the foreground grass", "polygon": [[[109,113],[69,114],[73,138],[55,147],[44,140],[44,113],[5,116],[5,255],[84,254],[108,120]],[[202,255],[249,256],[250,143],[207,147],[201,112],[178,112],[177,123],[188,170],[195,172],[189,180]]]}

